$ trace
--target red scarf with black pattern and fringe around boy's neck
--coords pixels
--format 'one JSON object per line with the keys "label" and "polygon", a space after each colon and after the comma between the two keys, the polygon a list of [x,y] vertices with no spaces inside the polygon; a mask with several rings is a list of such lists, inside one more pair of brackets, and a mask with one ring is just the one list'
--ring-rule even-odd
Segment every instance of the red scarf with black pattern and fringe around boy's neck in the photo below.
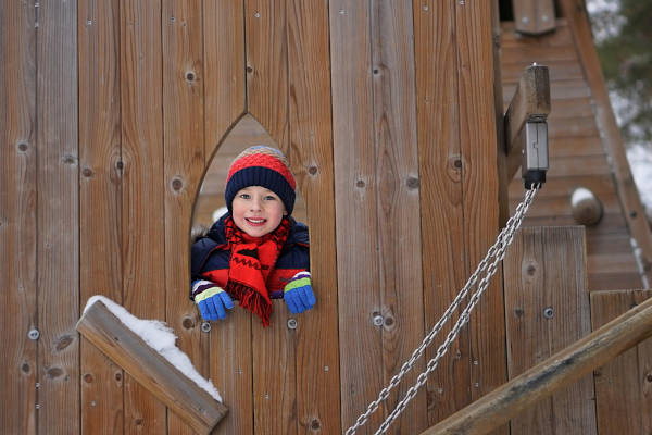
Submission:
{"label": "red scarf with black pattern and fringe around boy's neck", "polygon": [[231,251],[226,291],[240,301],[240,307],[258,314],[263,326],[269,326],[272,300],[266,282],[290,233],[290,221],[284,217],[278,228],[262,237],[249,236],[236,226],[231,216],[224,221],[224,226]]}

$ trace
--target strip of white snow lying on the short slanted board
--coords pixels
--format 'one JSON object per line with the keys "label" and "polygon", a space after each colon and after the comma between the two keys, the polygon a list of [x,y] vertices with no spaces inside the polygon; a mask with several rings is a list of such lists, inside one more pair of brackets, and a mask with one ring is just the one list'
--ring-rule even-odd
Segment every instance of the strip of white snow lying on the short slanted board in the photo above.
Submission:
{"label": "strip of white snow lying on the short slanted board", "polygon": [[88,299],[84,312],[88,310],[95,302],[101,301],[106,306],[120,321],[138,335],[149,347],[159,352],[179,372],[184,373],[190,381],[195,382],[199,387],[210,394],[215,400],[222,402],[222,396],[210,380],[206,380],[192,365],[190,358],[175,346],[176,335],[165,322],[159,320],[142,320],[138,319],[128,312],[124,307],[115,303],[111,299],[96,295]]}

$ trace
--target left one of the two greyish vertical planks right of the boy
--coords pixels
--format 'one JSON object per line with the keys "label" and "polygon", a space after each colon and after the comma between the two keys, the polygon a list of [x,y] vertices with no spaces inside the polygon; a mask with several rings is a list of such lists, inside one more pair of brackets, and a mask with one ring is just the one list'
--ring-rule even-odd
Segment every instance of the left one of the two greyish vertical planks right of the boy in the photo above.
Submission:
{"label": "left one of the two greyish vertical planks right of the boy", "polygon": [[[330,2],[329,15],[343,432],[384,384],[381,332],[373,323],[381,315],[378,187],[369,7],[336,0]],[[383,413],[377,411],[359,433],[372,433],[381,421]]]}

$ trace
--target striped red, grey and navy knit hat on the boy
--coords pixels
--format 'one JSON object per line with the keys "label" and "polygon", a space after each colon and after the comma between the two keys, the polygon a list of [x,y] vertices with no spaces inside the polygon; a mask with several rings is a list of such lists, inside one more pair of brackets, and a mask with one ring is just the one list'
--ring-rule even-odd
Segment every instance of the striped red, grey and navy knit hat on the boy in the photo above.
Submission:
{"label": "striped red, grey and navy knit hat on the boy", "polygon": [[233,213],[231,203],[236,194],[249,186],[262,186],[272,190],[283,201],[288,215],[292,214],[297,184],[286,157],[276,148],[256,145],[236,157],[228,169],[224,189],[229,213]]}

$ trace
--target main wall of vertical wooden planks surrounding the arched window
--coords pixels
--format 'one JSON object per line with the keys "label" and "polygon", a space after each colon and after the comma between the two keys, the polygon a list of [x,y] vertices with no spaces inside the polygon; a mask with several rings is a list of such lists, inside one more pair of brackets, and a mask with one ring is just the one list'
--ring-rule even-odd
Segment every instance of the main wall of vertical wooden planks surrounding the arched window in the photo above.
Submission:
{"label": "main wall of vertical wooden planks surrounding the arched window", "polygon": [[[220,433],[351,425],[497,233],[491,14],[453,0],[8,2],[3,432],[189,433],[76,334],[96,294],[174,328],[230,410]],[[269,328],[235,310],[203,333],[187,298],[193,203],[246,114],[298,177],[318,302],[296,330],[279,302]],[[393,433],[505,381],[500,287]]]}

